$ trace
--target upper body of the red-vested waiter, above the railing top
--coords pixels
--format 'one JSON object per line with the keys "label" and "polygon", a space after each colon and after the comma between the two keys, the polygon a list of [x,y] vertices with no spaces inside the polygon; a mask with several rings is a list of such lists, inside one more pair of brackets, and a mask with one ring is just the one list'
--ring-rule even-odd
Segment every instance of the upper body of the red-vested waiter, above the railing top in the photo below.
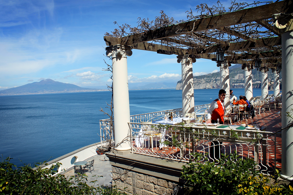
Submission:
{"label": "upper body of the red-vested waiter, above the railing top", "polygon": [[212,101],[211,107],[209,107],[209,111],[207,111],[207,124],[209,123],[217,123],[219,119],[219,123],[224,123],[224,99],[226,96],[226,91],[224,89],[219,90],[219,98]]}

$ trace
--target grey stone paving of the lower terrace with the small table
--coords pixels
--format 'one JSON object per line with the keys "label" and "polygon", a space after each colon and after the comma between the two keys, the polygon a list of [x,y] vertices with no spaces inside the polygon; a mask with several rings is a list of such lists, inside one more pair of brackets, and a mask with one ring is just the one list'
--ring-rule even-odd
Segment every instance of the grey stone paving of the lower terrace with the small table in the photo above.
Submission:
{"label": "grey stone paving of the lower terrace with the small table", "polygon": [[[91,168],[91,172],[88,169],[85,169],[85,174],[88,176],[88,185],[93,185],[93,183],[90,183],[91,181],[97,180],[98,182],[95,183],[95,186],[104,185],[104,186],[111,186],[112,185],[112,167],[110,165],[109,159],[106,157],[105,154],[97,156],[96,158],[93,158],[93,168]],[[84,167],[84,165],[82,165]],[[66,172],[64,174],[65,176],[72,176],[74,175],[74,169],[70,170],[69,172]],[[103,176],[103,177],[92,177],[92,176]]]}

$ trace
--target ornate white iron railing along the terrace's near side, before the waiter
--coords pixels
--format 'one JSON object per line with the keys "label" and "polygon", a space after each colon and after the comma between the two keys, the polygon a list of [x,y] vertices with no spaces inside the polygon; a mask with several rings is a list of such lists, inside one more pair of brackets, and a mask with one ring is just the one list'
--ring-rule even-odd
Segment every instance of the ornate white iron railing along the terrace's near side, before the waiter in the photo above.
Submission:
{"label": "ornate white iron railing along the terrace's near side, before the waiter", "polygon": [[[242,158],[253,158],[256,169],[273,172],[276,161],[276,134],[258,141],[273,132],[256,130],[221,129],[206,126],[175,126],[129,123],[132,153],[188,162],[193,153],[201,153],[209,160],[217,160],[220,153],[234,153]],[[212,144],[212,145],[211,145]],[[213,145],[214,144],[214,145]],[[219,145],[222,147],[221,150]],[[220,152],[221,151],[221,152]]]}

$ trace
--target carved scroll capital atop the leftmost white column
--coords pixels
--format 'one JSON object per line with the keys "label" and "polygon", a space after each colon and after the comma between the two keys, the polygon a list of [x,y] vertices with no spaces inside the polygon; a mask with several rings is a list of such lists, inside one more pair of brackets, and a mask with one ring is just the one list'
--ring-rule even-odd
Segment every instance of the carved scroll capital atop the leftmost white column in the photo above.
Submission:
{"label": "carved scroll capital atop the leftmost white column", "polygon": [[106,47],[106,55],[108,57],[112,56],[112,58],[126,58],[126,56],[131,56],[132,55],[132,46],[128,45],[114,45],[114,46],[109,46]]}

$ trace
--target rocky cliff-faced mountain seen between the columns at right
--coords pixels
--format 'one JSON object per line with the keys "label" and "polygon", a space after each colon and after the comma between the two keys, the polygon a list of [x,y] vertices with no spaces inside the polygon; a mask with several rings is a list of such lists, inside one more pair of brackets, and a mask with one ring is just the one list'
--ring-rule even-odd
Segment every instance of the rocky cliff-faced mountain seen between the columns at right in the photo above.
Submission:
{"label": "rocky cliff-faced mountain seen between the columns at right", "polygon": [[[261,72],[257,69],[252,70],[253,88],[261,87]],[[244,70],[241,69],[241,64],[236,64],[229,67],[230,88],[244,87]],[[282,88],[282,74],[280,73],[280,89]],[[272,90],[273,73],[268,72],[269,90]],[[209,73],[201,76],[193,76],[194,89],[212,89],[220,88],[220,72]],[[182,90],[182,80],[177,82],[176,90]]]}

